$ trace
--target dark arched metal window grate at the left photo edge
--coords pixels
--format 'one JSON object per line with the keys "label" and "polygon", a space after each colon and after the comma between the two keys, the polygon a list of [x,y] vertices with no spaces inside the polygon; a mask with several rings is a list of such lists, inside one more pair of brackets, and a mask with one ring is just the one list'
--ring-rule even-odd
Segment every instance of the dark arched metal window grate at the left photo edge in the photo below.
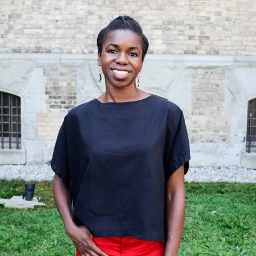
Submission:
{"label": "dark arched metal window grate at the left photo edge", "polygon": [[0,144],[21,148],[21,98],[6,92],[0,92]]}

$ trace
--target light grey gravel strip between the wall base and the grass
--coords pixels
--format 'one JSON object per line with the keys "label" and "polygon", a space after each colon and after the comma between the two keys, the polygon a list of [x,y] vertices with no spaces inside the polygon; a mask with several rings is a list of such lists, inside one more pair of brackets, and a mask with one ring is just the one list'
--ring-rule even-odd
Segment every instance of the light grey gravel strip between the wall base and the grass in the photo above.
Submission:
{"label": "light grey gravel strip between the wall base and the grass", "polygon": [[[0,165],[0,179],[19,179],[25,181],[51,181],[54,172],[51,166],[43,165]],[[185,176],[188,182],[256,182],[256,170],[245,169],[240,166],[229,167],[191,167]]]}

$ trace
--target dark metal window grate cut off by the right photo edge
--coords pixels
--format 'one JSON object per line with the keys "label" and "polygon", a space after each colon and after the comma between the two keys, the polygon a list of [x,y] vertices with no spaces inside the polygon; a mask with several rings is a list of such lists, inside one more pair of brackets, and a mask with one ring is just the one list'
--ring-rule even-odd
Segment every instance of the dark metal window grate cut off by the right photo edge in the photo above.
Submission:
{"label": "dark metal window grate cut off by the right photo edge", "polygon": [[248,103],[246,152],[256,152],[256,99]]}

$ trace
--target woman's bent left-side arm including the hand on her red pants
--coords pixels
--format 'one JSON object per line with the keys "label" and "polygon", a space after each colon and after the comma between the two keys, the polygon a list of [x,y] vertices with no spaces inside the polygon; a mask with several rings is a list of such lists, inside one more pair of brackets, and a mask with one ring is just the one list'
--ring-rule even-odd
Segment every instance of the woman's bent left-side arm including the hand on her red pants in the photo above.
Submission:
{"label": "woman's bent left-side arm including the hand on her red pants", "polygon": [[60,218],[62,218],[68,237],[74,242],[79,253],[83,255],[108,256],[94,242],[86,226],[77,226],[74,222],[70,186],[55,174],[52,184],[54,200]]}

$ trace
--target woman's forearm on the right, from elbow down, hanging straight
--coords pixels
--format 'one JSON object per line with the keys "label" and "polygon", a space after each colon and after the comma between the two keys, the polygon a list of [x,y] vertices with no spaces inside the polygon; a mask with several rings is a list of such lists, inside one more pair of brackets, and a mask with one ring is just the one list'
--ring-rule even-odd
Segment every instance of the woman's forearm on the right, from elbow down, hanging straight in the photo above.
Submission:
{"label": "woman's forearm on the right, from elbow down, hanging straight", "polygon": [[185,219],[185,190],[170,194],[166,198],[168,237],[165,256],[177,256]]}

